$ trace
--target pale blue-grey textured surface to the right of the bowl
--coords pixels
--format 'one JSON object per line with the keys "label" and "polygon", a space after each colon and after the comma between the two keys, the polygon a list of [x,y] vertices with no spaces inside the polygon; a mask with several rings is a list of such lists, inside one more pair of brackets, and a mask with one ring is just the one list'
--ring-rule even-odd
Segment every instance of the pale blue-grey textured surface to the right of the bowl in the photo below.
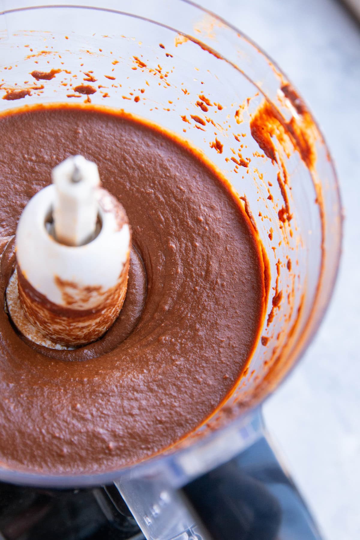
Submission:
{"label": "pale blue-grey textured surface to the right of the bowl", "polygon": [[[314,113],[341,184],[345,237],[330,309],[264,407],[328,540],[360,538],[360,26],[333,0],[198,0],[259,44]],[[306,539],[304,539],[306,540]]]}

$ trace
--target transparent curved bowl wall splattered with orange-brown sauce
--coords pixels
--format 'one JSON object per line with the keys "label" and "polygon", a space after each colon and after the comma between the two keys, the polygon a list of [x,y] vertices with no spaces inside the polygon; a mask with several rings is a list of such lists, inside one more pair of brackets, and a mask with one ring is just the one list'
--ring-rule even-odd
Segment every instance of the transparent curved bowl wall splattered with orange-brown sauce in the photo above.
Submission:
{"label": "transparent curved bowl wall splattered with orange-brown sauce", "polygon": [[[268,328],[266,317],[261,333],[268,342],[263,345],[259,340],[239,384],[212,418],[168,450],[184,451],[183,447],[199,444],[269,395],[322,319],[341,244],[341,206],[327,147],[310,114],[299,114],[297,102],[281,90],[288,81],[279,68],[236,29],[191,3],[135,1],[129,6],[107,0],[52,6],[44,1],[37,6],[3,0],[1,8],[0,111],[52,102],[86,106],[86,96],[73,87],[90,84],[96,89],[90,96],[92,104],[124,109],[186,138],[225,174],[240,197],[246,195],[269,258],[267,314],[273,307],[280,270],[276,290],[282,291],[283,299]],[[29,75],[33,70],[50,69],[62,71],[38,82]],[[90,71],[96,82],[84,82],[84,72]],[[1,99],[14,89],[28,89],[29,95]],[[196,104],[199,96],[212,104],[208,111]],[[284,126],[281,137],[275,133],[273,141],[288,172],[286,191],[293,216],[289,223],[278,217],[284,205],[277,182],[282,168],[264,156],[250,131],[250,120],[266,100]],[[287,128],[291,119],[293,134]],[[316,153],[313,166],[304,163],[296,150],[294,129]],[[214,148],[215,137],[223,144],[222,153]],[[238,159],[240,144],[242,157],[251,159],[247,168],[236,167],[231,159]],[[77,483],[105,482],[117,474],[104,471],[97,477],[80,476]],[[8,470],[0,471],[0,476],[43,485],[70,481]]]}

